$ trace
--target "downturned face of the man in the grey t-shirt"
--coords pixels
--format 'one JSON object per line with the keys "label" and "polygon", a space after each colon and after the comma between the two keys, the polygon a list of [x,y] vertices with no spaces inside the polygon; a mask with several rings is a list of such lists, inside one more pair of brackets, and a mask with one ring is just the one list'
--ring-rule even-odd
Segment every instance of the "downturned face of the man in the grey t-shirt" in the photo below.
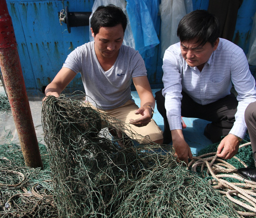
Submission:
{"label": "downturned face of the man in the grey t-shirt", "polygon": [[94,34],[94,48],[98,58],[116,58],[124,40],[124,30],[121,24],[114,27],[101,27],[98,34]]}

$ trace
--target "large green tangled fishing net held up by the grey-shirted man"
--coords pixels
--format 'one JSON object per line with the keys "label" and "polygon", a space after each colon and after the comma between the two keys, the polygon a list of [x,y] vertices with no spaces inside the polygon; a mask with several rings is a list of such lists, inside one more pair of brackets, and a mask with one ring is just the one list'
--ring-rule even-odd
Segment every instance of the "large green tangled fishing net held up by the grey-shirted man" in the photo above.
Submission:
{"label": "large green tangled fishing net held up by the grey-shirted man", "polygon": [[[169,145],[115,139],[127,124],[82,101],[47,97],[42,108],[60,217],[238,217],[209,182],[176,163]],[[118,123],[116,126],[114,123]],[[218,208],[216,210],[216,208]]]}

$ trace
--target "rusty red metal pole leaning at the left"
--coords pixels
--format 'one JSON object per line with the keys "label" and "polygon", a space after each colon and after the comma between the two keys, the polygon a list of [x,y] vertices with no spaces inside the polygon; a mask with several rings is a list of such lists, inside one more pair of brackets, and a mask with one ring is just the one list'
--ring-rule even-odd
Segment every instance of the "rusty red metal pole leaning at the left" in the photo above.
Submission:
{"label": "rusty red metal pole leaning at the left", "polygon": [[43,168],[6,0],[0,0],[0,67],[26,166]]}

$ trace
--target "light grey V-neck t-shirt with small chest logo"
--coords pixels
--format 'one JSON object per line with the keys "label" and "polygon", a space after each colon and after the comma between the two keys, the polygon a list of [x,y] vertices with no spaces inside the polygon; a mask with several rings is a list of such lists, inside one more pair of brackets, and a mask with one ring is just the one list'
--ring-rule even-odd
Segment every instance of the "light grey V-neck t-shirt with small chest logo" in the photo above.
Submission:
{"label": "light grey V-neck t-shirt with small chest logo", "polygon": [[147,75],[144,60],[138,51],[124,45],[114,65],[104,71],[96,57],[94,42],[88,42],[71,52],[63,67],[81,73],[86,95],[89,96],[86,100],[104,110],[120,107],[132,99],[132,77]]}

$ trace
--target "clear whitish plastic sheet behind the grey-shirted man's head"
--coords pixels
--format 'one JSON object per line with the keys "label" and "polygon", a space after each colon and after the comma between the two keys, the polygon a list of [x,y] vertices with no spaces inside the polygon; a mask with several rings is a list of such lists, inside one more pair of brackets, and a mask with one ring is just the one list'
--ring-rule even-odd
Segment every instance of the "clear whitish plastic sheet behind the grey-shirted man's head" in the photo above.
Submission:
{"label": "clear whitish plastic sheet behind the grey-shirted man's head", "polygon": [[[126,17],[128,18],[128,14],[126,11],[126,1],[125,0],[95,0],[94,4],[92,6],[92,14],[95,12],[95,10],[98,8],[98,6],[104,5],[107,6],[108,4],[114,4],[115,6],[118,6],[120,8],[122,8],[124,14],[126,15]],[[91,23],[91,18],[92,18],[92,14],[89,18],[90,23]],[[89,25],[89,28],[91,28],[91,24]],[[92,37],[92,35],[90,34],[90,41],[94,41],[94,38]],[[131,27],[131,23],[130,20],[127,19],[127,27],[124,33],[124,45],[126,46],[130,46],[132,48],[135,49],[135,41],[134,41],[134,37],[132,34],[132,27]]]}

